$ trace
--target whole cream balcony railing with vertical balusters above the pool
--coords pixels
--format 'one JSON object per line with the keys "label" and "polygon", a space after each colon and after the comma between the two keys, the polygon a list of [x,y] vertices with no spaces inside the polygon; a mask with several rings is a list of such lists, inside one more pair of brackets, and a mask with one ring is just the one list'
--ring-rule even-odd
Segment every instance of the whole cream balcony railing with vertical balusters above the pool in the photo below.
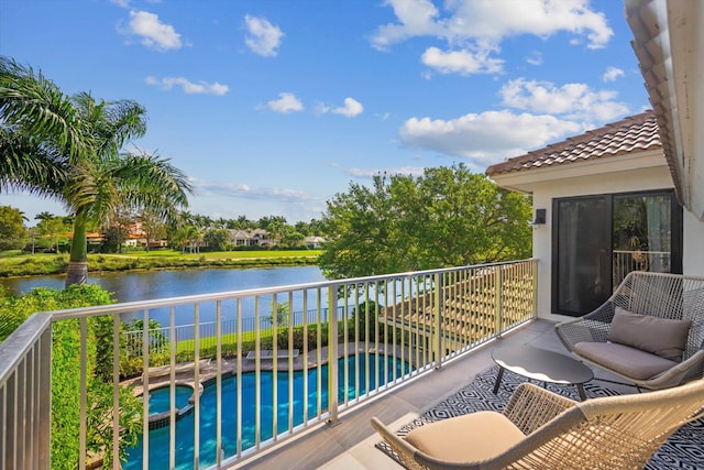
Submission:
{"label": "whole cream balcony railing with vertical balusters above the pool", "polygon": [[[62,364],[73,360],[77,369],[69,391],[76,425],[53,427],[76,442],[73,457],[62,453],[68,468],[101,458],[120,468],[112,456],[134,426],[141,436],[128,469],[147,469],[150,461],[226,468],[311,426],[336,423],[340,412],[534,318],[536,267],[528,260],[35,315],[0,345],[0,470],[47,469],[50,461],[58,468],[54,452],[66,450],[47,444],[48,423],[64,418],[50,419],[50,391],[56,405],[65,400],[64,387],[51,385],[52,325],[64,341],[66,331],[77,334],[74,356]],[[180,325],[200,325],[206,313],[215,313],[212,334],[193,328],[193,338],[178,339]],[[155,316],[168,329],[156,337],[157,352],[148,328]],[[267,317],[271,329],[257,327]],[[144,325],[138,359],[127,353],[134,345],[125,340],[124,318]],[[253,338],[245,337],[248,318]],[[95,382],[106,380],[112,396],[98,403]],[[194,389],[191,403],[176,403],[177,385]],[[160,387],[167,390],[167,411],[150,416],[148,397]],[[141,416],[128,413],[142,393]],[[157,425],[167,429],[151,430]],[[95,448],[97,434],[101,448]]]}

